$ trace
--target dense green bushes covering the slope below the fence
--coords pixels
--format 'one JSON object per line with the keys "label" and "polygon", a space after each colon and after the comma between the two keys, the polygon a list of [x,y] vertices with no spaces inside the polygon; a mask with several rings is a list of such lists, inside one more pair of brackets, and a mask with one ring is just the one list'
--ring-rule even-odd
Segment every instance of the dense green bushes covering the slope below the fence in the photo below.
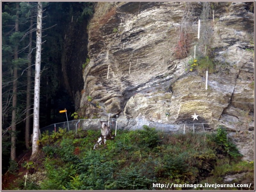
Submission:
{"label": "dense green bushes covering the slope below the fence", "polygon": [[[53,136],[42,134],[46,179],[34,187],[30,184],[27,187],[42,190],[150,190],[159,189],[152,186],[156,182],[199,183],[212,173],[220,174],[217,168],[214,169],[216,161],[221,161],[220,151],[237,157],[232,155],[233,145],[224,140],[225,134],[218,130],[216,135],[174,135],[143,126],[137,131],[117,130],[116,138],[100,145],[98,150],[92,148],[100,131],[80,131],[76,139],[72,133],[62,133],[61,137],[54,136],[55,142]],[[229,167],[228,170],[234,173],[238,164],[234,161],[233,166],[225,163],[220,166]],[[243,170],[253,170],[249,166],[251,164],[244,165]],[[19,189],[25,188],[20,185]]]}

